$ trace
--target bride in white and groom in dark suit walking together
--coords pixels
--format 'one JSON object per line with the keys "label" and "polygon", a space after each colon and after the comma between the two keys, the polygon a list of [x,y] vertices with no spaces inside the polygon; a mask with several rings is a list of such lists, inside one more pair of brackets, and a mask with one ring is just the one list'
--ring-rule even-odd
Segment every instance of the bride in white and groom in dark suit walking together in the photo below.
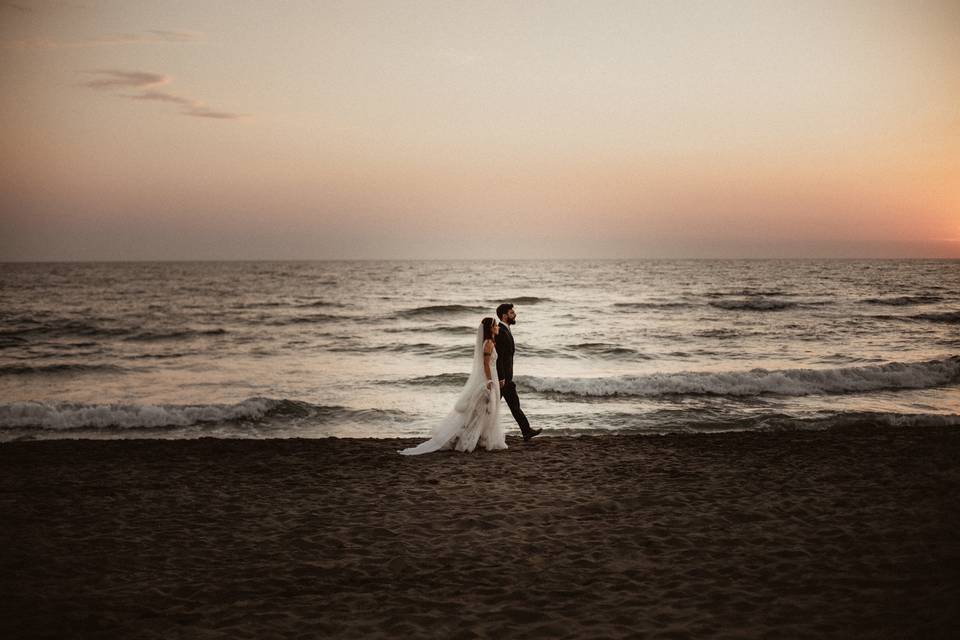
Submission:
{"label": "bride in white and groom in dark suit walking together", "polygon": [[506,449],[506,435],[497,420],[501,397],[520,425],[524,441],[540,433],[541,429],[530,427],[520,409],[517,385],[513,382],[515,346],[510,325],[516,322],[517,312],[509,302],[497,307],[496,320],[484,318],[480,322],[473,347],[473,367],[453,410],[433,428],[429,440],[400,453],[417,455],[441,449],[473,451],[477,447],[488,451]]}

